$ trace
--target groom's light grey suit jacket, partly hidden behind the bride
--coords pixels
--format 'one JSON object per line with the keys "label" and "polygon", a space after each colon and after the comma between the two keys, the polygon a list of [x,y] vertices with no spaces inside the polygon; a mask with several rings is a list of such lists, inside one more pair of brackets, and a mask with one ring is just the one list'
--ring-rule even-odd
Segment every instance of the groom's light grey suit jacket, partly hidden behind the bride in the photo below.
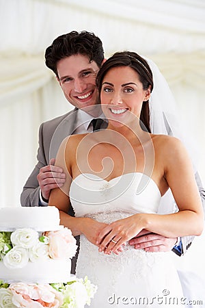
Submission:
{"label": "groom's light grey suit jacket, partly hidden behind the bride", "polygon": [[[47,166],[49,164],[49,160],[53,157],[55,158],[61,141],[64,140],[66,136],[72,134],[74,122],[76,119],[76,111],[77,109],[74,109],[71,112],[68,112],[68,114],[64,114],[63,116],[59,116],[40,125],[39,148],[37,155],[38,163],[36,164],[23,187],[23,192],[20,196],[20,202],[22,206],[32,207],[39,205],[40,187],[38,185],[37,175],[40,168]],[[205,191],[202,187],[202,181],[198,173],[195,174],[195,179],[197,181],[203,207],[205,209]],[[163,211],[161,213],[163,213]],[[182,238],[181,253],[178,253],[176,250],[174,250],[174,252],[178,255],[184,255],[184,253],[186,253],[187,249],[191,245],[193,238],[194,237],[192,236]]]}

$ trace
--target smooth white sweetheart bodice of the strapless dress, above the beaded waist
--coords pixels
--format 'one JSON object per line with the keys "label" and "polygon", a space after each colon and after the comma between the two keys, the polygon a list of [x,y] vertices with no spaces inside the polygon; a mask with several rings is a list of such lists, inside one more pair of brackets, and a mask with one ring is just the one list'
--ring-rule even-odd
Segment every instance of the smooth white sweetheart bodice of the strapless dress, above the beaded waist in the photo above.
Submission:
{"label": "smooth white sweetheart bodice of the strapless dress, above the beaded waist", "polygon": [[99,216],[108,211],[156,213],[161,201],[156,183],[140,172],[126,173],[110,181],[83,173],[72,181],[69,194],[76,217]]}

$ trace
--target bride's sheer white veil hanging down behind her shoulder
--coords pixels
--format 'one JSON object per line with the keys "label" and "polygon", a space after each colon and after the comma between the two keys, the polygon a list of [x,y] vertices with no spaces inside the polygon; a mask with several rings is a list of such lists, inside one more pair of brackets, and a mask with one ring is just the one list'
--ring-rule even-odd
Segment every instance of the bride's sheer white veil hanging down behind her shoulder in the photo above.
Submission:
{"label": "bride's sheer white veil hanging down behind her shoulder", "polygon": [[[191,151],[191,146],[189,146],[189,143],[182,132],[182,127],[180,127],[181,121],[178,117],[178,110],[172,92],[156,64],[146,57],[145,59],[150,65],[154,81],[154,88],[149,100],[150,129],[152,133],[162,133],[179,138],[187,148],[193,162],[193,169],[196,172],[194,153]],[[161,199],[159,213],[166,214],[172,213],[173,211],[178,211],[178,207],[174,201],[174,196],[169,189]]]}

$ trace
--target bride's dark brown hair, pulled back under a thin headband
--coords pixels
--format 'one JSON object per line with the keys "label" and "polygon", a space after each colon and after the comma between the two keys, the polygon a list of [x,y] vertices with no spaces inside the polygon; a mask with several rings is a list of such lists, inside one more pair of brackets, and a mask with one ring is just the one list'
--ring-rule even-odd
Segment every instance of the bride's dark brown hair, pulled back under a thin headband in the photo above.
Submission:
{"label": "bride's dark brown hair, pulled back under a thin headband", "polygon": [[[102,88],[102,80],[107,74],[107,72],[116,66],[129,66],[133,68],[139,75],[139,80],[143,85],[143,90],[148,90],[149,86],[150,91],[153,90],[153,78],[152,78],[152,70],[143,57],[138,55],[132,51],[122,51],[114,53],[100,68],[98,75],[96,77],[96,86],[100,93]],[[140,120],[143,125],[146,127],[146,130],[151,133],[150,129],[150,108],[149,101],[143,101],[143,105],[141,107]],[[143,128],[143,127],[142,127]]]}

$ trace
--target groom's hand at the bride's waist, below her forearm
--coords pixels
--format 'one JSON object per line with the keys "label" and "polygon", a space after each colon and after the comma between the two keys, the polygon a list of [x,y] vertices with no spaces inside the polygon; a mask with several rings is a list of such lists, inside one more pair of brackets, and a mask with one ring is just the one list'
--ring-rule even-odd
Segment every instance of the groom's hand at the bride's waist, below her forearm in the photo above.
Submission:
{"label": "groom's hand at the bride's waist, below her forearm", "polygon": [[137,237],[129,241],[135,249],[144,249],[150,253],[172,251],[177,242],[177,238],[165,238],[163,235],[148,233],[142,230]]}

